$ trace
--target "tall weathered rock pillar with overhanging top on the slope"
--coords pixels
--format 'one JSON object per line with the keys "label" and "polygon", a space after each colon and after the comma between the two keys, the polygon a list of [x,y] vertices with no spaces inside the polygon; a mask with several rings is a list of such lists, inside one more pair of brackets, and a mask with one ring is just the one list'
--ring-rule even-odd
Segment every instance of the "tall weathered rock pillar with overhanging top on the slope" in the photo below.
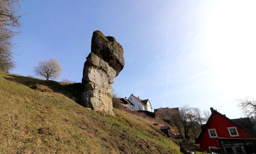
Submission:
{"label": "tall weathered rock pillar with overhanging top on the slope", "polygon": [[112,111],[112,83],[124,67],[123,48],[114,37],[95,31],[91,38],[91,53],[86,58],[81,104],[96,111]]}

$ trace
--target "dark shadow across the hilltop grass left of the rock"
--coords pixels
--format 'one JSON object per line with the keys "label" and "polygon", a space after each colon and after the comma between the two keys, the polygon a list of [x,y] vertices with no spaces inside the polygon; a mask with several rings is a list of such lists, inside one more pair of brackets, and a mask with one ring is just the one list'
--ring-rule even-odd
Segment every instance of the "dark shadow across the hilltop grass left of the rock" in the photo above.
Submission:
{"label": "dark shadow across the hilltop grass left of the rock", "polygon": [[14,74],[7,74],[9,77],[4,77],[5,80],[14,81],[16,83],[26,85],[31,89],[42,92],[57,92],[61,93],[73,101],[79,103],[79,96],[83,90],[81,83],[69,84],[65,82],[57,82],[53,80],[42,80],[36,78],[30,78],[25,76],[19,76]]}

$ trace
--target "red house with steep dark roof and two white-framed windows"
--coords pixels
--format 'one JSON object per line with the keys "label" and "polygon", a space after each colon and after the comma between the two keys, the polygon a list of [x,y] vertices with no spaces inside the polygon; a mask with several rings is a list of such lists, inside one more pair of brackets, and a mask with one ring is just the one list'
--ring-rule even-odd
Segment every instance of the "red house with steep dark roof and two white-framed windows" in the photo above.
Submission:
{"label": "red house with steep dark roof and two white-framed windows", "polygon": [[212,114],[202,126],[202,131],[196,140],[204,150],[209,151],[212,147],[220,148],[217,138],[254,138],[248,133],[248,128],[251,126],[248,117],[229,119],[212,107],[210,109]]}

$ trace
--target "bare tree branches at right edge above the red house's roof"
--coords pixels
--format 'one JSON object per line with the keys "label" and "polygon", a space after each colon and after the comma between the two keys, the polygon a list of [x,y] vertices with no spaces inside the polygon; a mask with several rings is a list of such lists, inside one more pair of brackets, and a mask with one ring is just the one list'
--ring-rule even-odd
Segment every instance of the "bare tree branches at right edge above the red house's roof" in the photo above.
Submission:
{"label": "bare tree branches at right edge above the red house's roof", "polygon": [[256,116],[256,100],[246,97],[244,100],[240,99],[238,101],[240,101],[238,106],[246,116]]}

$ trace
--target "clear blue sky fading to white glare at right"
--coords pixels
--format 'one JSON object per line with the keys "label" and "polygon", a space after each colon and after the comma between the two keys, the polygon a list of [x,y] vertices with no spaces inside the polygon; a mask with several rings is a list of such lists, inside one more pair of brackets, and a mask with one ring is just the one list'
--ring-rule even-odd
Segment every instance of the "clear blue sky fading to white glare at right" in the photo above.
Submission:
{"label": "clear blue sky fading to white glare at right", "polygon": [[57,58],[57,81],[81,82],[92,32],[100,30],[123,46],[125,66],[112,85],[119,96],[241,117],[237,99],[256,98],[255,7],[249,0],[24,0],[11,73],[35,76],[38,61]]}

